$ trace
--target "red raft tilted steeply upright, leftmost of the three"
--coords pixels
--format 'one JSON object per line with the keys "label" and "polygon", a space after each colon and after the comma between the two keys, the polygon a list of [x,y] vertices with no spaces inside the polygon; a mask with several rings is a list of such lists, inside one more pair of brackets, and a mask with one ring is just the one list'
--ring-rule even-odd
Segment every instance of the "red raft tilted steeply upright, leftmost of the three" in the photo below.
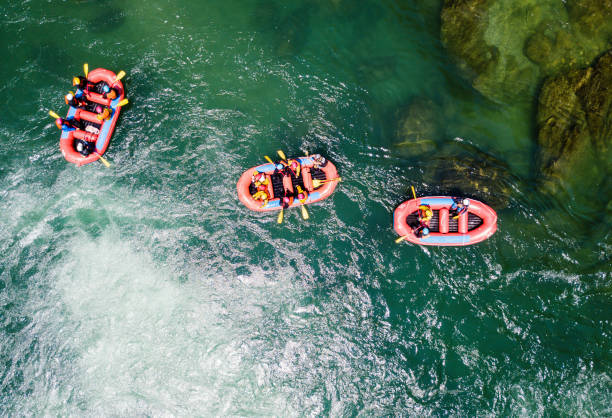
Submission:
{"label": "red raft tilted steeply upright, leftmost of the three", "polygon": [[[85,130],[62,131],[60,137],[60,150],[67,161],[81,166],[97,161],[106,152],[121,112],[121,106],[118,106],[119,102],[125,98],[123,83],[120,80],[115,80],[116,77],[117,75],[114,72],[103,68],[96,68],[87,74],[87,80],[93,84],[93,87],[85,91],[85,98],[89,103],[87,106],[78,109],[70,106],[67,115],[67,117],[74,116],[75,119],[80,120]],[[105,85],[117,92],[116,98],[111,100],[103,97],[102,89]],[[108,119],[98,120],[97,114],[93,110],[99,104],[110,109],[111,114]],[[77,140],[95,142],[94,152],[88,156],[81,155],[76,150]]]}

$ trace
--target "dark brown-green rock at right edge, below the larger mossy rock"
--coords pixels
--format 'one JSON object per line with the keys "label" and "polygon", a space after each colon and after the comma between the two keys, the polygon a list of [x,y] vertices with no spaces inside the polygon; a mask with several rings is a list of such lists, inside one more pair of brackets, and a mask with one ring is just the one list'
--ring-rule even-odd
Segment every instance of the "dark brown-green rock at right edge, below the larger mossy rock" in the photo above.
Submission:
{"label": "dark brown-green rock at right edge, below the larger mossy rock", "polygon": [[542,173],[554,191],[607,178],[612,142],[612,51],[586,69],[548,79],[538,105]]}

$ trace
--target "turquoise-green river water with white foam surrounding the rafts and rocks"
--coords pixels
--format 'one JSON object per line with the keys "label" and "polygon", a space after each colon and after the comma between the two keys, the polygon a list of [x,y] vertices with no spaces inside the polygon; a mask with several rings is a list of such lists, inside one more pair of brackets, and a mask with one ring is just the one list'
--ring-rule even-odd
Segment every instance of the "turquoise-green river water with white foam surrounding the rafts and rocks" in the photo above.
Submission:
{"label": "turquoise-green river water with white foam surrounding the rafts and rocks", "polygon": [[[456,74],[437,2],[0,11],[2,415],[612,412],[608,197],[537,191],[531,103]],[[46,116],[83,62],[127,72],[110,169],[66,163]],[[393,242],[410,185],[442,192],[396,146],[414,98],[437,150],[509,167],[480,245]],[[344,179],[308,222],[237,199],[277,149]]]}

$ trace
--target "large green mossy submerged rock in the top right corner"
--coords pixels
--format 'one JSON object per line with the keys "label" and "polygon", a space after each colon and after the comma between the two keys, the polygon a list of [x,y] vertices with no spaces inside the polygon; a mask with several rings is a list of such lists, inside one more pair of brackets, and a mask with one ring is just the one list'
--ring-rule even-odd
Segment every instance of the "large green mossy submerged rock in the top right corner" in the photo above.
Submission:
{"label": "large green mossy submerged rock in the top right corner", "polygon": [[530,97],[541,77],[612,46],[612,0],[445,0],[441,21],[460,70],[496,101]]}

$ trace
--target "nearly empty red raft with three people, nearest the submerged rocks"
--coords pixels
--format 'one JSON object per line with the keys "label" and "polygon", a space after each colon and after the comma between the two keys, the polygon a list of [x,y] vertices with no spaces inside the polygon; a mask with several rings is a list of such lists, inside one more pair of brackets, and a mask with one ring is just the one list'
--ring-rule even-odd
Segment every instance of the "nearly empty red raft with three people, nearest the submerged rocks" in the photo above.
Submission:
{"label": "nearly empty red raft with three people, nearest the submerged rocks", "polygon": [[[453,198],[448,196],[420,197],[408,200],[395,209],[393,228],[406,241],[419,245],[472,245],[484,241],[497,230],[497,213],[478,200],[469,199],[467,212],[458,219],[449,216]],[[413,230],[419,226],[418,207],[429,205],[433,217],[429,223],[429,235],[417,237]]]}

